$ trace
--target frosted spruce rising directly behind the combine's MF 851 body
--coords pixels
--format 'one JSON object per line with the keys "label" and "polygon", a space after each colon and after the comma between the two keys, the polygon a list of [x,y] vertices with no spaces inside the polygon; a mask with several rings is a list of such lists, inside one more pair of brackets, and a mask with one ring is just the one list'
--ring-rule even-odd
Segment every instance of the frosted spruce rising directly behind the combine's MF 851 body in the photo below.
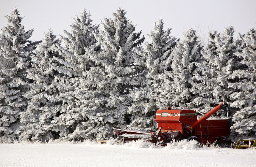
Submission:
{"label": "frosted spruce rising directly behind the combine's MF 851 body", "polygon": [[193,100],[198,95],[193,92],[196,82],[194,78],[198,72],[196,63],[202,62],[202,44],[196,35],[196,31],[189,29],[183,34],[183,40],[178,42],[171,53],[172,61],[172,100],[171,107],[194,108]]}

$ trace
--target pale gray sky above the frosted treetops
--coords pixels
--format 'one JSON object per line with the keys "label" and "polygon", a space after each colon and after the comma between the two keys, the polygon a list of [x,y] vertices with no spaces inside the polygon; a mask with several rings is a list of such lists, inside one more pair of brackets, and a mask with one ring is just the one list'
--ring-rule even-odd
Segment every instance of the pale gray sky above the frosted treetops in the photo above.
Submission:
{"label": "pale gray sky above the frosted treetops", "polygon": [[4,15],[16,6],[24,17],[25,30],[34,28],[30,39],[35,41],[43,39],[50,28],[54,34],[63,35],[63,29],[70,31],[68,23],[83,8],[90,12],[93,24],[98,25],[104,17],[112,18],[112,13],[121,6],[147,41],[146,34],[160,18],[164,29],[172,28],[171,35],[176,38],[181,38],[188,28],[198,29],[198,35],[204,36],[209,30],[221,32],[231,25],[237,36],[238,32],[244,34],[256,26],[255,0],[0,0],[0,4],[0,27],[6,26]]}

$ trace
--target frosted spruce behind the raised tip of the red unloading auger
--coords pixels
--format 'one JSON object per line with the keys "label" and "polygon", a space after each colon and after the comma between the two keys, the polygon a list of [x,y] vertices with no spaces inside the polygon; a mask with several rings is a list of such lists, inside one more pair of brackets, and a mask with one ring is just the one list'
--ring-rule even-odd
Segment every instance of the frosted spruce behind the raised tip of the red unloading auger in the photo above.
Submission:
{"label": "frosted spruce behind the raised tip of the red unloading auger", "polygon": [[222,33],[209,32],[210,40],[203,52],[205,62],[202,66],[203,80],[206,84],[206,93],[202,99],[203,103],[207,104],[205,108],[214,107],[221,101],[230,101],[232,89],[228,86],[230,82],[228,78],[232,71],[239,67],[239,60],[234,55],[236,50],[234,32],[232,26],[225,28]]}

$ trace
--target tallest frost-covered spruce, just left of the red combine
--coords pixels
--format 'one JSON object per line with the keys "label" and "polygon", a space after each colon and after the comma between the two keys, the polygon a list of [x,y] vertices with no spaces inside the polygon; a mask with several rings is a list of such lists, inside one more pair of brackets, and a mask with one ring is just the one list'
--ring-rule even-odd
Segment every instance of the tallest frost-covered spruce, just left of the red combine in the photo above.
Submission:
{"label": "tallest frost-covered spruce, just left of the red combine", "polygon": [[[144,41],[141,32],[135,32],[135,26],[125,17],[126,12],[119,7],[113,13],[113,19],[104,18],[102,28],[95,34],[101,50],[93,53],[93,60],[102,66],[105,76],[103,96],[106,97],[104,110],[95,117],[97,138],[111,135],[111,128],[124,128],[130,122],[128,107],[132,106],[130,93],[141,85],[140,68],[134,63],[135,48]],[[143,83],[142,83],[143,84]]]}

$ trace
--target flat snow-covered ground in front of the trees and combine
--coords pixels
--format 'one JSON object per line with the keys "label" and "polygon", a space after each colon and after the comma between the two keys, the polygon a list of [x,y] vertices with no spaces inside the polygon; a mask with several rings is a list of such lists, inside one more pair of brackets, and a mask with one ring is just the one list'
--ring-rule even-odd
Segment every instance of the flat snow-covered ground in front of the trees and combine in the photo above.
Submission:
{"label": "flat snow-covered ground in front of the trees and combine", "polygon": [[87,142],[0,144],[0,166],[256,166],[256,149],[195,148],[179,143],[156,148]]}

